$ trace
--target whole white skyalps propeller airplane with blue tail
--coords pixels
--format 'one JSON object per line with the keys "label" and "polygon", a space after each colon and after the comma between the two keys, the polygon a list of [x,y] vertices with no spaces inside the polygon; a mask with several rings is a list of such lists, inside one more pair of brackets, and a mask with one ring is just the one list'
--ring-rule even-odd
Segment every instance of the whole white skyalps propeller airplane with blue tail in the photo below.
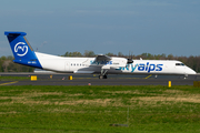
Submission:
{"label": "whole white skyalps propeller airplane with blue tail", "polygon": [[14,63],[60,73],[99,74],[196,74],[189,66],[176,60],[132,60],[99,54],[96,58],[66,58],[36,52],[26,39],[26,32],[6,31]]}

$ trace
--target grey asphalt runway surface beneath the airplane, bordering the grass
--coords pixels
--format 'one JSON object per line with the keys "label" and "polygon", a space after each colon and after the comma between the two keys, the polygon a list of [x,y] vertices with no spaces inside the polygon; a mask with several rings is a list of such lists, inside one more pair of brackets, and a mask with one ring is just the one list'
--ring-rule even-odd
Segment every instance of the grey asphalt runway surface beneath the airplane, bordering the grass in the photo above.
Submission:
{"label": "grey asphalt runway surface beneath the airplane, bordering the grass", "polygon": [[172,85],[193,85],[193,81],[200,81],[199,76],[183,76],[178,75],[163,75],[154,76],[150,75],[110,75],[110,79],[99,80],[94,75],[73,75],[73,80],[68,80],[69,74],[53,74],[50,79],[50,74],[11,74],[4,73],[2,76],[30,76],[37,75],[37,81],[22,80],[22,81],[0,81],[0,85],[168,85],[171,81]]}

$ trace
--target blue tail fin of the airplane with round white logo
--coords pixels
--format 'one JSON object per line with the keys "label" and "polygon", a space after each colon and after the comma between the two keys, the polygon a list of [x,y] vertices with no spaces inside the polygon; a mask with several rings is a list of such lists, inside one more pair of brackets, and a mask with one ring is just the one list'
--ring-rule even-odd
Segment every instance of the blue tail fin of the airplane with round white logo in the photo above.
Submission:
{"label": "blue tail fin of the airplane with round white logo", "polygon": [[7,35],[10,47],[12,49],[12,53],[14,55],[13,62],[41,69],[41,64],[33,49],[24,37],[27,35],[26,32],[6,31],[4,35]]}

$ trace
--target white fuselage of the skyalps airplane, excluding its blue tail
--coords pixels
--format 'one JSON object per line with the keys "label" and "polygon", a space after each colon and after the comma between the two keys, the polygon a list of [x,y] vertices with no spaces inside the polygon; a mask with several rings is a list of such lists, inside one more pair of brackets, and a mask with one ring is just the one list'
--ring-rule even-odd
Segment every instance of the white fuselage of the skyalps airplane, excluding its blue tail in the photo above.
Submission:
{"label": "white fuselage of the skyalps airplane, excluding its blue tail", "polygon": [[120,74],[196,74],[180,61],[171,60],[133,60],[127,64],[124,58],[111,58],[107,62],[96,62],[96,58],[63,58],[36,52],[43,70],[66,73],[107,73]]}

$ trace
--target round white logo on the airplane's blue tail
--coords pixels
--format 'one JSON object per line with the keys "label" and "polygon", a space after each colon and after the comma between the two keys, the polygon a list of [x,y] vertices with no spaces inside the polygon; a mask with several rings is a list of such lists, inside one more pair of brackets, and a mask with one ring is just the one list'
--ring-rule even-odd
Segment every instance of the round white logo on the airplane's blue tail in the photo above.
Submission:
{"label": "round white logo on the airplane's blue tail", "polygon": [[14,52],[17,53],[17,55],[23,57],[28,53],[28,47],[26,45],[24,42],[18,42],[14,45]]}

